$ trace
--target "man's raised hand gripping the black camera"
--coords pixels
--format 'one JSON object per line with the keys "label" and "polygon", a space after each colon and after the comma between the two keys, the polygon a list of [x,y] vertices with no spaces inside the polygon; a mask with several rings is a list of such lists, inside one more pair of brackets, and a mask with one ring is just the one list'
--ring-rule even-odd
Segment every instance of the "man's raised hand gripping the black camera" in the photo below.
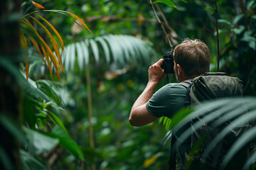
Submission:
{"label": "man's raised hand gripping the black camera", "polygon": [[164,60],[160,59],[155,64],[149,67],[149,83],[159,84],[164,77],[164,69],[161,68],[161,64]]}

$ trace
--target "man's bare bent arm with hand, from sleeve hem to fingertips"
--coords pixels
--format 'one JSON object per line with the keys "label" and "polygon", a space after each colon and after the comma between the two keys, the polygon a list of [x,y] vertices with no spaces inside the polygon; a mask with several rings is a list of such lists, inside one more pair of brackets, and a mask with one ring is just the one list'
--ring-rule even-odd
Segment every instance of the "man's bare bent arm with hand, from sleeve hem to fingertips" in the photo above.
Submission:
{"label": "man's bare bent arm with hand, from sleeve hem to fingertips", "polygon": [[133,126],[147,125],[157,119],[146,109],[146,102],[153,96],[156,86],[164,77],[164,69],[161,69],[162,62],[163,59],[149,67],[149,82],[139,98],[134,102],[129,116],[129,123]]}

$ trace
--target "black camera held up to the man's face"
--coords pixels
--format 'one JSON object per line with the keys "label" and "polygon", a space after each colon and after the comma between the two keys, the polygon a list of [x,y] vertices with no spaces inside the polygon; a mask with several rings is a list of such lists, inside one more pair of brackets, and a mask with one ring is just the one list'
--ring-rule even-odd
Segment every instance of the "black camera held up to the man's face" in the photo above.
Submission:
{"label": "black camera held up to the man's face", "polygon": [[166,52],[164,54],[164,61],[161,64],[161,68],[164,69],[165,74],[174,74],[174,50]]}

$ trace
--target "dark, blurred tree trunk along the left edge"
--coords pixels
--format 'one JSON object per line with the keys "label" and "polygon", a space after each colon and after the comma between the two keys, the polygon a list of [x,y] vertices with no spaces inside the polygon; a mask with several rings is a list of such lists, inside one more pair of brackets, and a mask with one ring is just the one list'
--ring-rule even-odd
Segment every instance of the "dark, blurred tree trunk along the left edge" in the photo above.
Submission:
{"label": "dark, blurred tree trunk along the left edge", "polygon": [[[18,14],[21,11],[20,0],[0,1],[0,57],[10,60],[18,69],[20,56],[19,22]],[[21,89],[16,84],[14,76],[0,64],[0,114],[8,116],[20,127],[21,123]],[[19,142],[11,135],[9,129],[0,124],[1,154],[6,154],[11,164],[4,166],[4,160],[0,160],[0,169],[21,169],[19,157]]]}

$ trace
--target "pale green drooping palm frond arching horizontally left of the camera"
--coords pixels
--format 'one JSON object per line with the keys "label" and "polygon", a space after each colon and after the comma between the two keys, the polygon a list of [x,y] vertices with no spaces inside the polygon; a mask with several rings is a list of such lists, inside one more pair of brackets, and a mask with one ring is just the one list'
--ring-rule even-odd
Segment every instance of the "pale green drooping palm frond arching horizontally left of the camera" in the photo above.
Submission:
{"label": "pale green drooping palm frond arching horizontally left of the camera", "polygon": [[[75,57],[78,57],[78,67],[84,69],[90,59],[97,62],[115,62],[120,66],[149,62],[156,52],[148,42],[134,38],[131,35],[104,35],[75,42],[65,47],[66,72],[73,72]],[[103,57],[103,58],[102,58]]]}

